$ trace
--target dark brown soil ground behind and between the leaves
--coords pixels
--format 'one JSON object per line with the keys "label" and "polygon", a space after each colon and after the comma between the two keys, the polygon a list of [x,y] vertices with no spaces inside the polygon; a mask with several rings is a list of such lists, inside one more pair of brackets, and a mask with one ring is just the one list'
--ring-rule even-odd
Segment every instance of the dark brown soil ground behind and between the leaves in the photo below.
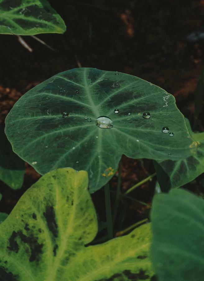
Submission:
{"label": "dark brown soil ground behind and between the leaves", "polygon": [[[195,88],[204,66],[204,40],[188,42],[187,35],[204,30],[204,0],[50,0],[67,25],[64,35],[38,37],[56,52],[31,37],[28,52],[16,36],[0,35],[0,122],[18,98],[52,75],[78,67],[121,71],[150,81],[177,100],[180,111],[193,122]],[[202,114],[200,115],[202,117]],[[202,117],[203,119],[203,117]],[[202,120],[203,121],[203,120]],[[204,124],[204,122],[202,123]],[[203,125],[200,126],[203,131]],[[122,190],[154,172],[151,160],[122,158]],[[13,191],[2,182],[0,211],[10,212],[22,193],[39,178],[26,164],[24,185]],[[155,178],[132,192],[137,200],[151,204]],[[117,176],[110,181],[116,189]],[[187,185],[197,190],[195,181]],[[105,221],[104,192],[93,195],[100,219]],[[114,193],[112,195],[114,202]],[[116,230],[146,217],[146,207],[134,201],[121,202]],[[125,218],[125,219],[124,219]]]}

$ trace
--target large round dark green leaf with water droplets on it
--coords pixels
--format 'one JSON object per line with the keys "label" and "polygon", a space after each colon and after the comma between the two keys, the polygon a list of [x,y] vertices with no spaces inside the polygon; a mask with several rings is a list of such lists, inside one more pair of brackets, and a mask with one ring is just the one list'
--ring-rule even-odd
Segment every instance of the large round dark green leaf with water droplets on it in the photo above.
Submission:
{"label": "large round dark green leaf with water droplets on it", "polygon": [[[102,124],[110,128],[96,126],[100,116],[111,119]],[[164,126],[173,137],[162,133]],[[110,180],[122,154],[178,160],[197,145],[172,95],[138,77],[95,68],[59,73],[28,91],[8,114],[6,134],[40,174],[67,166],[87,170],[90,192]]]}

